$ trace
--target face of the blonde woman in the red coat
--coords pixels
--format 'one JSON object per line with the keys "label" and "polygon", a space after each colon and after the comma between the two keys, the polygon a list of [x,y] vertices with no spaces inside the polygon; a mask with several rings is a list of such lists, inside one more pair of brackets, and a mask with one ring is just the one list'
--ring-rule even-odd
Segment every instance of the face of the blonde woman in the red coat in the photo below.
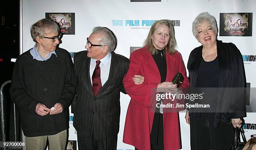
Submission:
{"label": "face of the blonde woman in the red coat", "polygon": [[153,45],[156,49],[162,50],[168,44],[170,39],[170,30],[166,25],[159,24],[152,36]]}

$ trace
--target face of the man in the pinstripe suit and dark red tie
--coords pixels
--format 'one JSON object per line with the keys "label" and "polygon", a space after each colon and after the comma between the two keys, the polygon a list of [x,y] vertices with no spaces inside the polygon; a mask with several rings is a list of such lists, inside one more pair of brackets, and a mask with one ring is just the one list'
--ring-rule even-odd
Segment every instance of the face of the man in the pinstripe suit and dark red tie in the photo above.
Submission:
{"label": "face of the man in the pinstripe suit and dark red tie", "polygon": [[[101,33],[92,33],[88,40],[94,45],[100,45],[101,37]],[[87,57],[101,60],[108,54],[108,50],[105,50],[105,47],[107,46],[92,46],[89,48],[88,45],[85,45],[85,48],[87,49]]]}

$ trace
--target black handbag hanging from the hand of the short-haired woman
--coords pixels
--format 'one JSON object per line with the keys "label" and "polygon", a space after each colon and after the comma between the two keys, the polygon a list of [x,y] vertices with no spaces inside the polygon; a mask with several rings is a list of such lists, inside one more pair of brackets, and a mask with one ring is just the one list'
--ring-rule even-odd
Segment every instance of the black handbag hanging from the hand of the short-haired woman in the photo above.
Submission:
{"label": "black handbag hanging from the hand of the short-haired woman", "polygon": [[[240,140],[239,133],[241,133],[243,142],[241,142]],[[230,146],[229,150],[243,150],[245,145],[246,145],[246,138],[244,135],[243,128],[236,128],[234,142],[233,142],[233,145]]]}

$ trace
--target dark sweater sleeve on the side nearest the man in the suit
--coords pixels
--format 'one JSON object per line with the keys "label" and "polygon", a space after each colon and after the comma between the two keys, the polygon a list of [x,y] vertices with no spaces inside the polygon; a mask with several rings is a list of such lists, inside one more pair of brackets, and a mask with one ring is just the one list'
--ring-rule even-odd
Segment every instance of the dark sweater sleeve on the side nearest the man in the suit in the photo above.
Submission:
{"label": "dark sweater sleeve on the side nearest the man in the suit", "polygon": [[61,91],[61,96],[56,101],[56,103],[60,103],[63,106],[63,110],[67,109],[70,103],[72,102],[76,88],[76,82],[73,71],[73,62],[67,52],[64,53],[64,57],[66,58],[66,76],[64,81],[64,87]]}

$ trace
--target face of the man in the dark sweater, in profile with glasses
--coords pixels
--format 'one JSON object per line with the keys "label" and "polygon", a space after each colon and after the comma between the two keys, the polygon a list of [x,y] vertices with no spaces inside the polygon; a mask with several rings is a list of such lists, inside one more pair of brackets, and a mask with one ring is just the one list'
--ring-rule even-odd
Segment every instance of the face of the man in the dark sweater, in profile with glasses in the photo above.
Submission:
{"label": "face of the man in the dark sweater, in profile with glasses", "polygon": [[[49,32],[46,33],[44,36],[45,37],[55,37],[58,36],[58,32]],[[59,44],[59,40],[58,38],[52,42],[52,39],[48,39],[48,38],[41,38],[38,41],[38,51],[40,52],[53,52],[57,45]]]}

